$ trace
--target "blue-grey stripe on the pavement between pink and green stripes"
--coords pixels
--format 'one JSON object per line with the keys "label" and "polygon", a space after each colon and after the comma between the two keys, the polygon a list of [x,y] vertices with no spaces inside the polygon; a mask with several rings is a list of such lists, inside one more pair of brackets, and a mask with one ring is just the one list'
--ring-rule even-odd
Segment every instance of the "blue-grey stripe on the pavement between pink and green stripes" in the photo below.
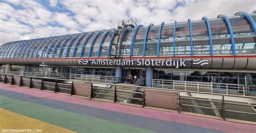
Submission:
{"label": "blue-grey stripe on the pavement between pink and green stripes", "polygon": [[[3,90],[0,90],[2,93]],[[21,94],[17,92],[10,93],[9,91],[4,91],[4,97],[18,97],[22,98],[24,101],[32,102],[33,104],[39,104],[43,106],[49,106],[52,108],[62,109],[68,112],[77,113],[80,115],[86,115],[91,117],[97,117],[98,119],[104,119],[107,121],[122,123],[125,125],[131,125],[138,128],[149,129],[157,132],[218,132],[217,130],[200,128],[192,125],[169,122],[163,120],[152,119],[143,116],[125,114],[120,112],[113,112],[106,109],[100,109],[95,107],[82,106],[77,104],[71,104],[68,102],[56,101],[51,99],[42,99],[37,97],[32,97],[31,95]],[[9,92],[9,93],[8,93]],[[2,95],[2,94],[1,94]],[[11,102],[9,102],[11,103]],[[0,105],[1,107],[1,105]],[[182,128],[180,128],[182,127]]]}

